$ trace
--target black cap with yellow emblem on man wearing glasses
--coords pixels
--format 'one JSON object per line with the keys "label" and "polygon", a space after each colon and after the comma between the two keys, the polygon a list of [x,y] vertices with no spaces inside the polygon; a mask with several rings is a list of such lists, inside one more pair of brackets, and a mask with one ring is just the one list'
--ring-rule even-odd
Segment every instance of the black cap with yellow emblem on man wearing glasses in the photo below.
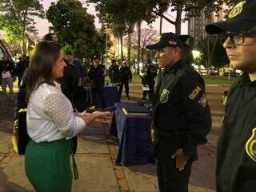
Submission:
{"label": "black cap with yellow emblem on man wearing glasses", "polygon": [[222,33],[223,31],[239,33],[250,31],[254,26],[256,26],[256,1],[248,0],[239,2],[234,6],[226,21],[206,25],[206,32],[210,34]]}

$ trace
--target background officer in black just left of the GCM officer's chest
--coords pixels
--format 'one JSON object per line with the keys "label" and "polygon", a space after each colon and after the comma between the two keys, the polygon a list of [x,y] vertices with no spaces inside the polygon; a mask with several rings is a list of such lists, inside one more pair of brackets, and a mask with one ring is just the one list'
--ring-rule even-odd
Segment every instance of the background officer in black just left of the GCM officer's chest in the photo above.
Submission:
{"label": "background officer in black just left of the GCM officer's chest", "polygon": [[[149,86],[149,95],[150,95],[150,100],[152,101],[153,95],[154,95],[154,77],[157,76],[157,68],[152,65],[152,61],[148,60],[146,65],[146,72],[142,76],[142,84],[147,84]],[[143,100],[146,100],[146,91],[143,91]]]}

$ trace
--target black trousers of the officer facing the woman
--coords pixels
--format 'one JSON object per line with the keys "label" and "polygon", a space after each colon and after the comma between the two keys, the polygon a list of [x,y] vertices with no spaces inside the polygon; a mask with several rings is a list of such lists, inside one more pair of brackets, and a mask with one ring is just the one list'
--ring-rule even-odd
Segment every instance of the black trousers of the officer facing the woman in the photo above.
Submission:
{"label": "black trousers of the officer facing the woman", "polygon": [[183,170],[176,168],[176,159],[172,155],[182,148],[183,135],[174,135],[170,139],[161,139],[154,135],[154,157],[158,174],[159,192],[188,192],[192,159]]}

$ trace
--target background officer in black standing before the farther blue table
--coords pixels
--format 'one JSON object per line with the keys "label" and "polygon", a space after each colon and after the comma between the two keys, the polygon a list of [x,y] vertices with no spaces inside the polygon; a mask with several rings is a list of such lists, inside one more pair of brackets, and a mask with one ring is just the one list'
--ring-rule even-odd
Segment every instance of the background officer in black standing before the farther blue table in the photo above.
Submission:
{"label": "background officer in black standing before the farther blue table", "polygon": [[96,97],[99,96],[102,108],[106,108],[104,95],[105,66],[100,64],[98,56],[94,56],[93,65],[90,66],[88,76],[90,78],[90,101],[91,106],[96,105]]}

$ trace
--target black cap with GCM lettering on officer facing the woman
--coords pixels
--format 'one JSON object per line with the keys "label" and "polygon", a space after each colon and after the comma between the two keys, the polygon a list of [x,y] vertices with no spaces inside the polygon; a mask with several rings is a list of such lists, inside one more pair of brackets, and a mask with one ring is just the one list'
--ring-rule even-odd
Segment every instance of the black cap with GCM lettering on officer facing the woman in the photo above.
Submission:
{"label": "black cap with GCM lettering on officer facing the woman", "polygon": [[162,33],[160,41],[153,45],[146,45],[147,49],[161,50],[165,47],[183,47],[182,40],[175,33]]}

